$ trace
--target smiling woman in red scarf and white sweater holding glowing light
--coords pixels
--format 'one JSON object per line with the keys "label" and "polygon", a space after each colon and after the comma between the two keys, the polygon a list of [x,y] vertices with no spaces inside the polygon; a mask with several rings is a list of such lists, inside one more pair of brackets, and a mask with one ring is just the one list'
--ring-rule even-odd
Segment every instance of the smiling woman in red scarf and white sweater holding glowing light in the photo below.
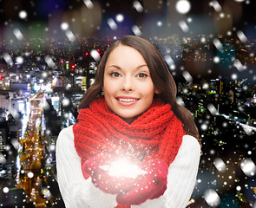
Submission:
{"label": "smiling woman in red scarf and white sweater holding glowing light", "polygon": [[200,136],[152,43],[124,36],[106,50],[77,119],[56,144],[66,207],[186,207]]}

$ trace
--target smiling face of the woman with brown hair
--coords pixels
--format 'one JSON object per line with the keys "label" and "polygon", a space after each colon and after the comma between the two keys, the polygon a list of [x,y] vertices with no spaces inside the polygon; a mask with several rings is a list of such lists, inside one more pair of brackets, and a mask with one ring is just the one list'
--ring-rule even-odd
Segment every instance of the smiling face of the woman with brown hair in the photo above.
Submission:
{"label": "smiling face of the woman with brown hair", "polygon": [[148,110],[158,93],[143,56],[129,46],[120,45],[109,54],[103,79],[108,107],[129,123]]}

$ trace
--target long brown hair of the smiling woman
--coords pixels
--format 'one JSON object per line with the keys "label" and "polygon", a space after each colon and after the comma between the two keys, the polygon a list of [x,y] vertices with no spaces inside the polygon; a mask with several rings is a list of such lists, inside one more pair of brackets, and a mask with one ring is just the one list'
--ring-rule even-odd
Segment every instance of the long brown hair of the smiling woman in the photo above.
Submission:
{"label": "long brown hair of the smiling woman", "polygon": [[187,134],[194,136],[200,142],[200,135],[189,110],[176,101],[177,88],[160,51],[147,40],[137,36],[123,36],[109,46],[98,65],[95,82],[84,94],[79,109],[89,107],[89,103],[102,93],[105,64],[108,55],[119,45],[130,46],[138,50],[148,64],[154,87],[160,92],[157,96],[165,103],[170,103],[174,114],[181,120]]}

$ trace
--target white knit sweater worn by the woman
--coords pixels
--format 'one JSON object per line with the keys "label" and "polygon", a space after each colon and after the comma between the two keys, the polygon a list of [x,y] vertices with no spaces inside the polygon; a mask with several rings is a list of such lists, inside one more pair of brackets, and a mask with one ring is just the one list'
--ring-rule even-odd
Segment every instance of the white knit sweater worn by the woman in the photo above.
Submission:
{"label": "white knit sweater worn by the woman", "polygon": [[[102,192],[91,178],[83,178],[72,127],[62,129],[56,141],[56,177],[66,208],[114,208],[117,205],[115,194]],[[180,150],[168,168],[167,190],[159,198],[131,207],[186,207],[194,190],[199,162],[199,142],[192,136],[183,136]]]}

